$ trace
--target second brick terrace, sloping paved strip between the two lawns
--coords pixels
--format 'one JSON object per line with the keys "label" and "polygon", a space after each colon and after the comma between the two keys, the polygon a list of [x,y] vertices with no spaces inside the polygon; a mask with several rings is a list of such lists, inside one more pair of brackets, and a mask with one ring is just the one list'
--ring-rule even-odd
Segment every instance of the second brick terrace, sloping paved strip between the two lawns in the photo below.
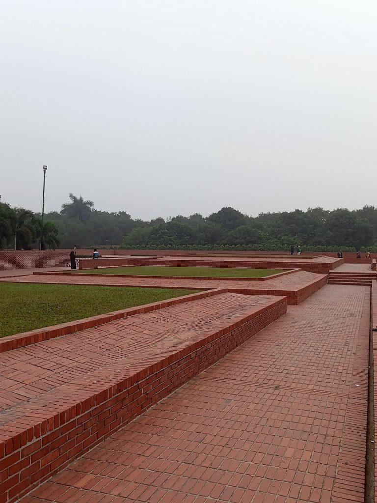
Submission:
{"label": "second brick terrace, sloping paved strip between the two lawns", "polygon": [[[99,270],[101,273],[101,270]],[[326,284],[326,274],[314,274],[306,271],[293,272],[285,276],[278,276],[265,281],[255,280],[204,280],[204,279],[177,279],[153,277],[112,277],[73,275],[44,275],[35,274],[15,278],[2,278],[0,281],[26,282],[26,283],[58,283],[69,285],[105,285],[105,286],[140,286],[154,288],[187,288],[209,290],[226,288],[233,293],[253,295],[285,295],[290,304],[298,304]]]}

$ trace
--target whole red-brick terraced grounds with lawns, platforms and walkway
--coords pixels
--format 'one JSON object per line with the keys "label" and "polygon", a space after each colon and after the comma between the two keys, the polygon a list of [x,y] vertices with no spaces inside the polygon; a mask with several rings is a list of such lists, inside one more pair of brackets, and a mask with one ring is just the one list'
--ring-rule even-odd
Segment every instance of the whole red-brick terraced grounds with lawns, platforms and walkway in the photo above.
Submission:
{"label": "whole red-brick terraced grounds with lawns, platforms and walkway", "polygon": [[372,501],[375,260],[260,255],[0,272],[0,503]]}

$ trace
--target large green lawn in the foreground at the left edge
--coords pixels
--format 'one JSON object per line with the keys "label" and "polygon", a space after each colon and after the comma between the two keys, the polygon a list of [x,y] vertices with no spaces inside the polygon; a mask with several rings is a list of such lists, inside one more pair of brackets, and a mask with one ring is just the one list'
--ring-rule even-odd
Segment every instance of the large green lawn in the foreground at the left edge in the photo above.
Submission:
{"label": "large green lawn in the foreground at the left edge", "polygon": [[0,337],[198,290],[0,283]]}

